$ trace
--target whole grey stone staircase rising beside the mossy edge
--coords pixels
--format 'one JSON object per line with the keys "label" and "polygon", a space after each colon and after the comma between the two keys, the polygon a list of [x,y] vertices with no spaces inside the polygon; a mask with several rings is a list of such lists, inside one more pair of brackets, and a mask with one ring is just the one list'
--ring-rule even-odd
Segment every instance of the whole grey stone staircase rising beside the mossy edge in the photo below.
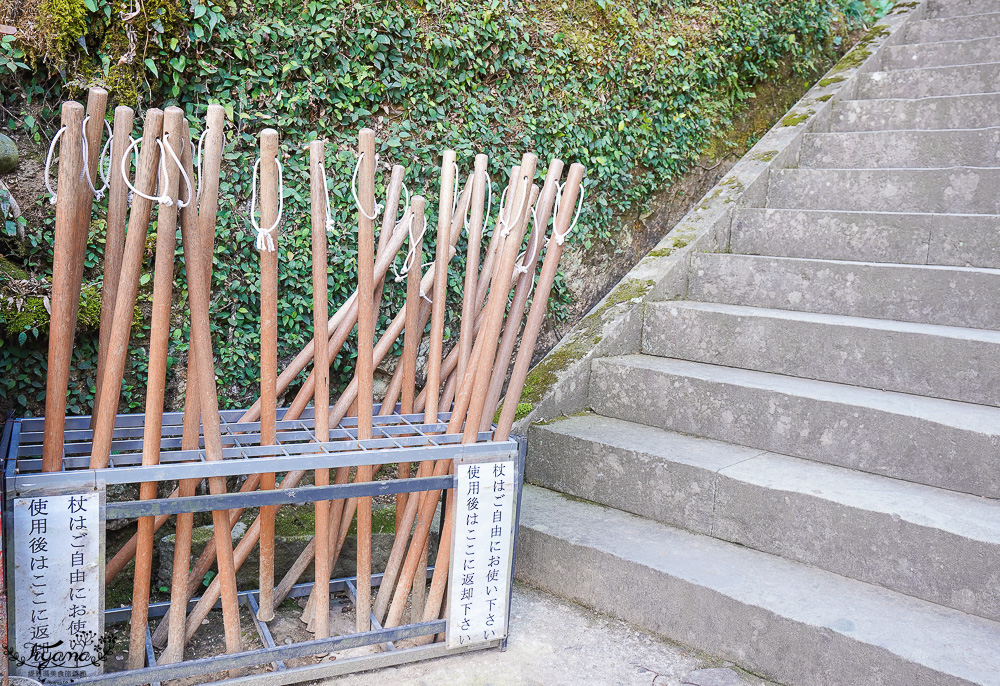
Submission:
{"label": "whole grey stone staircase rising beside the mossy edge", "polygon": [[531,427],[522,580],[789,686],[1000,684],[1000,1],[923,9]]}

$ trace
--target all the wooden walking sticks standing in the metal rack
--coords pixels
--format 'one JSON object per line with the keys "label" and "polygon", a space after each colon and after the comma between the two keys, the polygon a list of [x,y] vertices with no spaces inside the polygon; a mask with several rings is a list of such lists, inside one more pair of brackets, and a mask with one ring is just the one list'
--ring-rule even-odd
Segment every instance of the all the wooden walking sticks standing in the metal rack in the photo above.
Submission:
{"label": "all the wooden walking sticks standing in the metal rack", "polygon": [[[188,120],[176,107],[168,107],[165,111],[148,110],[142,138],[136,140],[132,139],[133,112],[127,107],[117,108],[112,135],[102,147],[106,128],[105,103],[106,93],[101,89],[91,90],[86,111],[78,103],[65,103],[62,128],[57,136],[60,162],[58,187],[53,197],[56,235],[43,468],[46,471],[62,468],[66,390],[83,255],[94,197],[105,190],[96,189],[92,179],[103,172],[101,158],[105,154],[110,158],[111,173],[106,175],[105,184],[109,201],[104,300],[90,466],[107,467],[113,448],[146,232],[154,204],[157,232],[142,464],[156,464],[160,455],[178,224],[191,318],[181,448],[203,449],[205,459],[221,460],[221,421],[209,310],[224,109],[220,105],[209,106],[198,140],[196,161]],[[420,195],[410,197],[405,187],[405,170],[397,165],[385,183],[382,202],[376,202],[375,134],[369,129],[362,130],[352,179],[357,213],[357,290],[331,316],[327,292],[327,234],[333,221],[324,143],[310,143],[314,336],[279,374],[280,252],[277,248],[282,242],[283,180],[278,138],[273,129],[260,133],[260,154],[254,165],[250,222],[256,231],[255,246],[260,254],[261,390],[260,399],[238,422],[259,421],[260,445],[278,444],[278,398],[311,364],[306,381],[284,411],[282,420],[298,419],[312,401],[314,439],[319,444],[327,443],[331,427],[341,426],[347,417],[356,418],[358,440],[371,439],[376,407],[382,415],[396,411],[402,415],[422,413],[425,426],[437,425],[437,431],[460,434],[463,443],[483,440],[484,435],[506,440],[535,342],[546,317],[564,241],[579,217],[583,167],[572,165],[565,182],[560,183],[563,163],[552,160],[539,189],[534,183],[537,159],[531,153],[525,154],[521,163],[507,174],[494,219],[491,217],[493,188],[486,156],[476,156],[473,171],[463,184],[455,153],[445,151],[440,168],[434,261],[425,266],[425,200]],[[54,141],[53,146],[55,144]],[[133,159],[134,181],[130,172]],[[484,246],[482,237],[491,221],[492,233]],[[377,243],[376,223],[379,224]],[[449,342],[445,340],[449,265],[463,230],[467,232],[468,252],[462,275],[460,330],[457,341]],[[402,268],[398,269],[401,251]],[[542,262],[540,271],[537,269],[539,261]],[[377,314],[390,270],[396,273],[397,281],[405,280],[406,299],[385,333],[376,340]],[[355,327],[357,362],[354,378],[331,407],[330,368]],[[418,392],[418,352],[425,332],[427,363],[423,388]],[[389,361],[387,358],[400,339],[402,352],[395,360],[391,381],[376,405],[375,368]],[[452,344],[445,354],[448,343]],[[493,428],[501,399],[502,409]],[[375,479],[379,469],[380,465],[358,466],[354,470],[354,480],[360,483]],[[451,460],[426,461],[417,465],[415,475],[444,476],[451,470]],[[409,478],[413,474],[410,464],[397,465],[398,478]],[[341,467],[335,470],[332,482],[345,484],[350,476],[351,469]],[[273,473],[251,475],[240,490],[294,488],[305,477],[306,472],[301,470],[285,473],[280,482]],[[331,474],[328,469],[316,469],[313,480],[316,485],[328,485]],[[212,494],[226,492],[224,477],[213,477],[208,482]],[[196,479],[182,480],[170,497],[192,496],[198,485]],[[144,483],[140,498],[156,498],[156,491],[155,482]],[[450,499],[443,512],[441,539],[429,588],[426,582],[431,521],[440,496],[440,492],[424,491],[396,497],[396,534],[377,587],[378,593],[373,598],[371,583],[357,584],[358,631],[370,629],[372,616],[385,627],[398,626],[403,622],[407,604],[411,606],[414,621],[428,621],[442,615],[451,548]],[[184,658],[185,645],[220,600],[226,649],[228,652],[241,650],[236,572],[254,548],[259,548],[260,557],[258,618],[272,619],[275,608],[312,565],[316,581],[303,620],[308,622],[317,638],[329,635],[330,594],[323,590],[329,588],[331,570],[355,519],[357,576],[358,579],[371,579],[372,576],[371,498],[316,502],[315,536],[276,584],[274,525],[279,507],[261,507],[235,547],[232,530],[243,510],[213,512],[212,540],[193,566],[190,564],[193,515],[177,515],[170,608],[152,636],[154,646],[163,649],[158,664]],[[153,540],[168,518],[140,519],[135,536],[106,567],[106,580],[111,583],[131,560],[136,561],[129,649],[131,668],[144,665]],[[217,574],[188,611],[191,599],[213,565]],[[434,637],[424,640],[431,641]]]}

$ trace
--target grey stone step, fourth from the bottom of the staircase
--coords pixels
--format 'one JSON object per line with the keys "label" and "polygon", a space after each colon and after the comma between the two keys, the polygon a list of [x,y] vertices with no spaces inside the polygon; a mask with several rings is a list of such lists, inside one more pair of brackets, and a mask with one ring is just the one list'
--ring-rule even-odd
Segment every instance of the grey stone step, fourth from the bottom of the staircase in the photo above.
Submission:
{"label": "grey stone step, fourth from the bottom of the staircase", "polygon": [[646,306],[642,352],[1000,405],[1000,332],[701,302]]}

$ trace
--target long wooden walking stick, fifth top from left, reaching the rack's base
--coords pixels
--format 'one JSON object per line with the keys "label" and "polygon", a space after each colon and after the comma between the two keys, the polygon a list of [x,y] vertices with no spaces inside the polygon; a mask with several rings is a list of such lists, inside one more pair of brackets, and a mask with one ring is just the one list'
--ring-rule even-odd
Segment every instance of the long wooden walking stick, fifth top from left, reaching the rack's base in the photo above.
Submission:
{"label": "long wooden walking stick, fifth top from left, reaching the rack's base", "polygon": [[[170,341],[170,304],[174,286],[174,247],[177,233],[179,162],[183,146],[184,112],[168,107],[163,117],[163,149],[169,158],[163,167],[160,193],[169,203],[160,203],[156,219],[156,261],[153,267],[153,313],[149,335],[149,372],[146,382],[146,420],[143,425],[142,464],[160,462],[160,429],[163,426],[163,392],[167,381],[167,346]],[[168,147],[169,146],[169,147]],[[171,152],[173,153],[171,155]],[[162,153],[161,153],[162,154]],[[187,188],[187,201],[193,202],[193,190]],[[156,481],[144,481],[139,487],[141,500],[156,498]],[[132,584],[132,620],[129,631],[128,668],[141,669],[146,664],[146,631],[149,618],[149,586],[153,564],[153,518],[139,518],[139,540]]]}

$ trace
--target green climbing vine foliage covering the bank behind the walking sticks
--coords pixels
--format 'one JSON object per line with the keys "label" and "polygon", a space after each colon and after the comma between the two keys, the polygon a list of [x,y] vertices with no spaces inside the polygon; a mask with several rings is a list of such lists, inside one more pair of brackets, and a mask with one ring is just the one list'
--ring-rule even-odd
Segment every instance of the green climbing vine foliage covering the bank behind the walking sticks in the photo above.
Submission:
{"label": "green climbing vine foliage covering the bank behind the walking sticks", "polygon": [[[435,165],[446,148],[457,151],[463,177],[476,153],[489,155],[495,200],[504,170],[523,151],[535,151],[543,161],[583,163],[587,202],[575,240],[586,249],[594,241],[613,242],[617,218],[641,211],[654,189],[684,171],[779,61],[808,70],[838,34],[871,13],[858,0],[14,4],[7,10],[12,16],[0,17],[21,29],[18,39],[0,41],[0,105],[6,113],[0,123],[40,145],[58,128],[58,101],[80,97],[88,85],[104,85],[113,104],[140,113],[178,104],[195,128],[208,103],[225,106],[213,326],[228,406],[246,405],[257,393],[258,261],[246,215],[256,135],[264,127],[277,128],[283,141],[280,353],[288,358],[311,335],[308,141],[329,141],[334,304],[347,297],[356,278],[350,177],[362,126],[377,131],[381,169],[404,165],[410,191],[432,199]],[[23,236],[0,236],[19,268],[43,280],[51,268],[50,215],[29,222]],[[428,225],[435,226],[433,216]],[[88,254],[92,283],[100,279],[98,233]],[[463,238],[460,255],[464,244]],[[433,249],[429,236],[427,259]],[[462,269],[459,257],[449,284],[452,304],[460,297]],[[144,284],[141,295],[148,297],[151,284]],[[390,284],[382,326],[398,308],[402,290]],[[555,316],[565,297],[557,293]],[[451,316],[449,331],[457,328]],[[0,396],[6,394],[8,406],[31,411],[44,397],[44,385],[37,383],[44,373],[44,316],[20,330],[0,313],[4,317]],[[186,354],[186,326],[182,316],[175,318],[175,361]],[[80,346],[86,364],[95,332],[86,325],[78,332],[86,339]],[[134,340],[141,353],[141,324]],[[351,357],[348,349],[338,358],[335,381],[344,382]],[[144,385],[142,363],[135,364],[123,393],[131,408],[141,406]],[[25,371],[26,365],[33,371]],[[25,378],[8,381],[14,368]],[[71,398],[80,411],[89,409],[93,385],[85,369]],[[19,390],[25,388],[32,392]]]}

